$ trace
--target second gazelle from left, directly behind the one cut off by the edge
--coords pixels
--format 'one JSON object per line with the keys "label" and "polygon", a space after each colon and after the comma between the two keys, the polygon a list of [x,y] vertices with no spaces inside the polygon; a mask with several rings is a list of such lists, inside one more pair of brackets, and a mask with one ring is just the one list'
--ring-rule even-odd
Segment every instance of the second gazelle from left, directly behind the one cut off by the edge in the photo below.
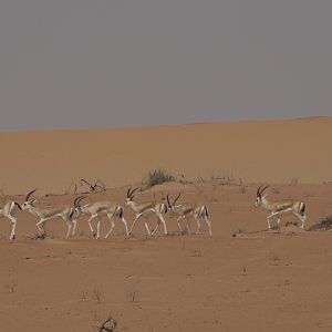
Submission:
{"label": "second gazelle from left, directly behind the one cut off by the edge", "polygon": [[75,234],[76,229],[76,219],[73,218],[73,211],[74,208],[76,207],[76,204],[79,200],[83,199],[82,196],[79,196],[74,200],[74,205],[63,205],[54,208],[41,208],[41,207],[35,207],[34,203],[37,199],[30,199],[30,196],[37,189],[30,191],[25,201],[22,205],[22,210],[28,210],[30,214],[33,216],[38,217],[40,220],[37,222],[38,229],[43,234],[46,235],[46,231],[44,229],[44,222],[50,220],[50,219],[55,219],[55,218],[62,218],[62,220],[65,221],[68,226],[68,232],[66,232],[66,238],[69,238],[71,231],[72,236]]}

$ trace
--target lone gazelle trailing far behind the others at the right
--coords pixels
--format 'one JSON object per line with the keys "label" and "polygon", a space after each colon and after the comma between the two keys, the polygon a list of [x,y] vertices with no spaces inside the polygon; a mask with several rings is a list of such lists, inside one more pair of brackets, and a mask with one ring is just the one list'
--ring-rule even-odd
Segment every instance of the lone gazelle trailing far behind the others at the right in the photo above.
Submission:
{"label": "lone gazelle trailing far behind the others at the right", "polygon": [[264,190],[268,188],[269,186],[266,186],[261,189],[261,186],[259,186],[259,188],[257,189],[256,193],[256,203],[255,205],[257,207],[262,207],[266,210],[270,211],[270,215],[268,216],[268,226],[269,229],[271,229],[271,222],[270,219],[272,217],[277,217],[277,222],[278,222],[278,228],[280,227],[280,218],[282,215],[287,215],[287,214],[293,214],[294,216],[297,216],[302,225],[301,228],[304,228],[304,222],[307,219],[307,216],[304,215],[304,210],[305,210],[305,204],[303,201],[298,201],[298,200],[283,200],[283,201],[268,201],[267,200],[267,196],[268,194],[264,194]]}

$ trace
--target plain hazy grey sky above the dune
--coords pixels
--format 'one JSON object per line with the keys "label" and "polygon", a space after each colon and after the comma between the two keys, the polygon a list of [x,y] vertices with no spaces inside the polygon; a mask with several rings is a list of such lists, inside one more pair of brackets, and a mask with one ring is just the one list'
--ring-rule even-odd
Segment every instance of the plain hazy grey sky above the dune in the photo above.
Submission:
{"label": "plain hazy grey sky above the dune", "polygon": [[332,115],[331,0],[1,0],[0,131]]}

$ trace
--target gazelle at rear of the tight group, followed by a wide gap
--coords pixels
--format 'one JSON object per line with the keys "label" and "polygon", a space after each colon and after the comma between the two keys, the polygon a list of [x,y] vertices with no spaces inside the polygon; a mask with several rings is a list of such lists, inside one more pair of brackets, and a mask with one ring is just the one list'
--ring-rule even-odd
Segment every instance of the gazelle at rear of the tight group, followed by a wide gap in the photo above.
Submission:
{"label": "gazelle at rear of the tight group, followed by a wide gap", "polygon": [[196,234],[199,234],[201,225],[200,225],[200,220],[205,220],[205,222],[208,225],[209,227],[209,235],[212,235],[212,230],[211,230],[211,222],[209,220],[209,211],[206,205],[175,205],[176,201],[179,199],[181,193],[179,193],[177,195],[177,197],[174,199],[173,204],[170,204],[169,200],[169,195],[167,195],[167,204],[168,204],[168,208],[169,210],[178,216],[177,218],[177,226],[179,231],[181,232],[181,226],[180,226],[180,220],[184,219],[189,219],[189,218],[194,218],[197,222],[197,230]]}

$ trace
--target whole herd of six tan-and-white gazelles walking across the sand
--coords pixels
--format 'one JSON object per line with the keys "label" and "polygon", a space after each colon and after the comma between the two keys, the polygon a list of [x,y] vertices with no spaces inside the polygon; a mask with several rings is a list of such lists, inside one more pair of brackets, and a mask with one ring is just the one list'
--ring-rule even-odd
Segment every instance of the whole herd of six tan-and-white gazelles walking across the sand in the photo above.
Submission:
{"label": "whole herd of six tan-and-white gazelles walking across the sand", "polygon": [[[271,229],[271,222],[270,222],[271,218],[277,218],[278,228],[280,228],[280,218],[282,215],[286,214],[293,214],[294,216],[297,216],[301,220],[301,228],[304,228],[304,222],[307,217],[304,215],[305,205],[303,201],[297,201],[297,200],[268,201],[267,194],[264,194],[264,191],[269,186],[266,186],[263,188],[261,187],[262,186],[260,186],[257,189],[257,195],[256,195],[257,197],[256,197],[255,205],[257,207],[262,207],[268,211],[270,211],[270,215],[268,216],[269,229]],[[50,219],[62,218],[68,226],[66,238],[69,238],[70,235],[72,236],[75,235],[77,219],[83,215],[89,216],[89,220],[87,220],[89,227],[96,239],[100,238],[100,226],[101,226],[101,218],[103,215],[106,215],[111,222],[111,228],[106,234],[105,238],[107,238],[111,235],[111,232],[115,227],[113,220],[114,217],[118,217],[123,222],[126,236],[129,236],[132,234],[133,228],[139,218],[144,219],[144,225],[148,236],[153,236],[158,229],[160,224],[163,224],[164,232],[165,235],[167,235],[168,234],[167,226],[163,215],[166,214],[168,210],[173,215],[177,216],[177,225],[180,232],[183,231],[180,225],[181,220],[185,219],[187,220],[187,229],[188,229],[188,220],[195,219],[197,222],[196,234],[199,234],[201,229],[200,221],[205,221],[208,226],[209,235],[210,236],[212,235],[211,222],[209,220],[209,211],[207,206],[187,205],[187,204],[176,205],[177,200],[180,197],[180,194],[178,194],[178,196],[173,200],[173,203],[170,203],[169,195],[167,195],[167,205],[164,201],[158,201],[158,200],[137,204],[135,201],[136,196],[134,194],[138,189],[139,188],[134,188],[134,189],[128,188],[127,197],[125,199],[125,204],[129,206],[135,214],[135,219],[129,230],[128,230],[127,221],[124,218],[124,208],[122,205],[108,200],[103,200],[103,201],[85,204],[82,206],[81,201],[85,199],[86,196],[79,196],[74,199],[72,205],[68,204],[54,208],[41,208],[34,205],[37,199],[34,198],[30,199],[37,189],[30,191],[27,195],[25,200],[21,206],[19,203],[14,200],[7,201],[3,205],[3,207],[0,208],[0,217],[6,217],[12,222],[12,229],[10,234],[11,240],[15,238],[15,228],[17,228],[15,212],[18,209],[27,210],[31,212],[33,216],[35,216],[37,218],[39,218],[37,222],[37,227],[43,235],[45,235],[45,229],[44,229],[45,221]],[[157,218],[157,225],[153,231],[149,230],[148,222],[147,222],[151,216],[156,216]],[[94,231],[91,224],[91,221],[94,218],[97,218],[96,232]]]}

